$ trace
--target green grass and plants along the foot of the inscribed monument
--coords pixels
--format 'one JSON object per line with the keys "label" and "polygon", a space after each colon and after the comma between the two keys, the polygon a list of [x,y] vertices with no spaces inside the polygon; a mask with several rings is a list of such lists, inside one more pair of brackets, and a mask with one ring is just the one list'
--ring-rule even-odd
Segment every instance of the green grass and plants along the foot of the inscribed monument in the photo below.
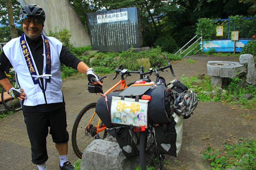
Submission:
{"label": "green grass and plants along the foot of the inscribed monument", "polygon": [[[73,48],[72,52],[81,61],[85,62],[89,67],[93,67],[97,74],[110,74],[114,73],[114,69],[120,64],[122,68],[128,68],[130,70],[139,71],[140,65],[137,63],[137,59],[149,58],[152,67],[156,67],[157,64],[162,66],[167,65],[166,60],[177,61],[182,60],[178,55],[162,52],[161,47],[151,48],[148,51],[134,52],[132,49],[129,51],[121,52],[97,52],[88,56],[82,56],[84,50],[90,51],[89,48]],[[90,61],[91,59],[91,61]],[[193,62],[193,61],[190,61]],[[61,64],[61,79],[64,80],[67,77],[80,74],[73,68],[67,67]]]}

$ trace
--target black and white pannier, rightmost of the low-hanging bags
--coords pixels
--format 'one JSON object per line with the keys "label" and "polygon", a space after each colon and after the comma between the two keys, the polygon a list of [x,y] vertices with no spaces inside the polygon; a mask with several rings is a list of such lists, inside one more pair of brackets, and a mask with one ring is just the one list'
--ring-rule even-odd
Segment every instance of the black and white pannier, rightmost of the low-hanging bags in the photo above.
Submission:
{"label": "black and white pannier, rightmost of the low-hanging bags", "polygon": [[167,154],[177,157],[182,143],[183,116],[175,112],[172,121],[168,124],[153,126],[156,145],[160,154]]}

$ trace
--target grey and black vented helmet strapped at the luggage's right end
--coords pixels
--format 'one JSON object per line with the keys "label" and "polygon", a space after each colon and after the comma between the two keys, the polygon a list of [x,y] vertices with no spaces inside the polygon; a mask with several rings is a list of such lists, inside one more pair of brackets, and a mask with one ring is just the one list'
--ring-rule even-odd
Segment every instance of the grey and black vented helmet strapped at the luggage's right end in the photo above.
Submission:
{"label": "grey and black vented helmet strapped at the luggage's right end", "polygon": [[177,114],[181,114],[184,116],[188,116],[193,113],[197,106],[197,96],[194,91],[190,91],[188,94],[181,93],[179,98],[179,102],[176,101],[174,106],[174,111]]}

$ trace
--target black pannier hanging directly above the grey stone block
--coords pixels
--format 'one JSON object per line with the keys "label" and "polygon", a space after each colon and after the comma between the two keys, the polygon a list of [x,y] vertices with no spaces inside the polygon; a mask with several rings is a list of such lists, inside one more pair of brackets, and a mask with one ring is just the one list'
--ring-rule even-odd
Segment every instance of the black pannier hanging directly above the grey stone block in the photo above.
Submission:
{"label": "black pannier hanging directly above the grey stone block", "polygon": [[116,138],[119,147],[127,158],[139,156],[139,132],[133,132],[128,126],[108,128],[107,132]]}

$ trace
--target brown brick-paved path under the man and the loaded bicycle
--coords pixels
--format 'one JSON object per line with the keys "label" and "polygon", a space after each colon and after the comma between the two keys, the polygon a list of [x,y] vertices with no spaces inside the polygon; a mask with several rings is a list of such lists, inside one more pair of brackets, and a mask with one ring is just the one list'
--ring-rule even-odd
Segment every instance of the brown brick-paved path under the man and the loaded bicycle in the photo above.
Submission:
{"label": "brown brick-paved path under the man and the loaded bicycle", "polygon": [[[188,56],[196,60],[189,64],[188,61],[175,61],[173,69],[177,79],[184,76],[196,76],[207,73],[206,64],[209,60],[238,61],[238,57],[217,57],[217,56]],[[160,74],[167,82],[174,79],[169,72]],[[104,80],[103,91],[113,86],[116,81],[111,79],[114,74],[107,75]],[[153,76],[151,76],[151,79]],[[135,76],[127,78],[128,82],[136,79]],[[75,162],[75,156],[71,146],[71,132],[73,123],[79,111],[87,104],[96,102],[99,95],[90,94],[87,91],[87,77],[78,77],[63,81],[63,94],[65,96],[67,111],[67,130],[69,132],[69,154],[70,162]],[[224,140],[238,140],[238,138],[249,138],[256,136],[256,120],[248,120],[242,117],[243,113],[255,115],[255,111],[237,108],[231,109],[229,104],[223,105],[218,102],[199,102],[194,115],[184,120],[183,141],[180,155],[174,161],[170,156],[166,160],[170,165],[164,169],[179,170],[184,166],[187,170],[198,170],[204,168],[202,161],[203,150],[206,146],[222,146]],[[205,140],[207,139],[207,140]],[[59,169],[59,156],[52,142],[51,135],[47,138],[47,148],[49,159],[47,161],[48,170]],[[0,169],[1,170],[37,170],[36,165],[31,162],[30,142],[28,139],[25,123],[23,122],[22,111],[0,119]]]}

